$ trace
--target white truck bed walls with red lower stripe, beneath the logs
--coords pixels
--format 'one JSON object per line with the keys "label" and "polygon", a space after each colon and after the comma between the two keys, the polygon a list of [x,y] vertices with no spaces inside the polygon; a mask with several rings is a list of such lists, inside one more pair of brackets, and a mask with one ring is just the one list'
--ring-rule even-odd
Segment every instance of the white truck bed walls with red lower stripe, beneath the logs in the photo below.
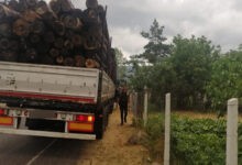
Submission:
{"label": "white truck bed walls with red lower stripe, beneath the logs", "polygon": [[0,62],[0,96],[96,105],[114,85],[99,69]]}

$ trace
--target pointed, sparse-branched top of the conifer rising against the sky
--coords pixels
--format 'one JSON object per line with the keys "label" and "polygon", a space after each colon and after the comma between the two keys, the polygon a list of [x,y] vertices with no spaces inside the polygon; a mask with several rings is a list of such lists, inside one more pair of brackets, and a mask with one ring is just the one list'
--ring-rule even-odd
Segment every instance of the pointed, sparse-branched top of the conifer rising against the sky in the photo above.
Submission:
{"label": "pointed, sparse-branched top of the conifer rising against the sky", "polygon": [[144,53],[136,56],[138,58],[155,64],[169,55],[170,45],[165,44],[167,38],[163,36],[163,31],[164,26],[160,26],[158,22],[154,20],[150,32],[141,32],[141,35],[144,38],[147,38],[148,43],[144,46]]}

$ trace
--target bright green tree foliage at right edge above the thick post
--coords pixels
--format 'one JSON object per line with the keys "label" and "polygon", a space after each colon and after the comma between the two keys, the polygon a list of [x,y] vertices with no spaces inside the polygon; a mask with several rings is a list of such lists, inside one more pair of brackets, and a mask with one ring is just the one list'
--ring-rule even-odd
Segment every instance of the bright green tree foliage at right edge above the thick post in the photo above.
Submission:
{"label": "bright green tree foliage at right edge above the thick post", "polygon": [[242,100],[242,52],[230,52],[212,64],[211,79],[206,91],[211,108],[223,113],[228,99]]}

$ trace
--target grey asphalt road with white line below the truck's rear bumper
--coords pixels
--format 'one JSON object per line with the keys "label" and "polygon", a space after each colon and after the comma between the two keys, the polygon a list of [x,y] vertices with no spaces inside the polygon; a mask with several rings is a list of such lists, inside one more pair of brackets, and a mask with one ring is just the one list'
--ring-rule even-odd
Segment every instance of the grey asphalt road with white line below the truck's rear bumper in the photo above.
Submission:
{"label": "grey asphalt road with white line below the truck's rear bumper", "polygon": [[0,134],[0,165],[77,165],[88,143]]}

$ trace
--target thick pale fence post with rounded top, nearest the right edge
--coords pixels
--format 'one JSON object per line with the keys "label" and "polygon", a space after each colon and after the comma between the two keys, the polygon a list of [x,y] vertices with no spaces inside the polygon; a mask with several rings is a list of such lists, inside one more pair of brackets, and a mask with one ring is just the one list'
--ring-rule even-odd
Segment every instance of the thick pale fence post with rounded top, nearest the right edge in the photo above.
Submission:
{"label": "thick pale fence post with rounded top, nearest the right edge", "polygon": [[238,99],[230,99],[227,117],[227,165],[238,165]]}

